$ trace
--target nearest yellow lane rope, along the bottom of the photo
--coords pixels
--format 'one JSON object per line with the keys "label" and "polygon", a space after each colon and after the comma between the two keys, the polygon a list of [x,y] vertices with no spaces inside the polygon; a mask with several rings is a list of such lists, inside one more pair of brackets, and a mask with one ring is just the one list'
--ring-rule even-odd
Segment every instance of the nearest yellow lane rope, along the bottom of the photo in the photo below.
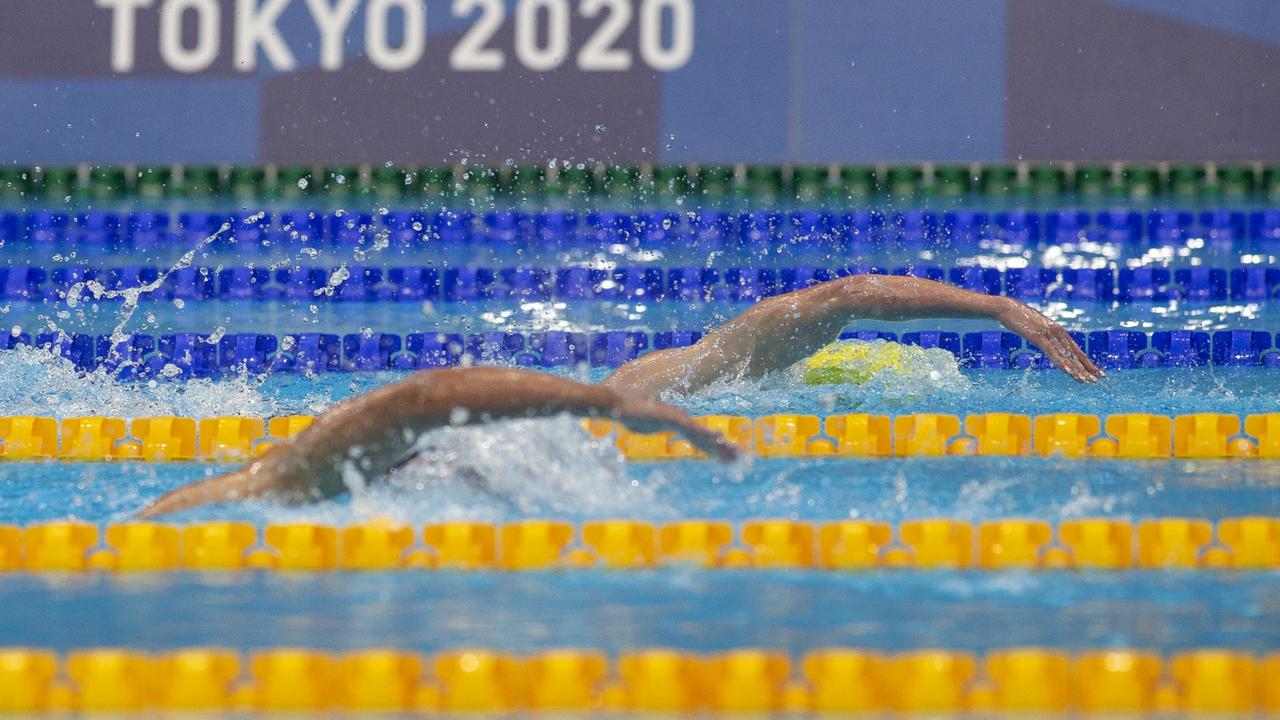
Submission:
{"label": "nearest yellow lane rope, along the bottom of the photo", "polygon": [[356,712],[1247,712],[1280,711],[1280,653],[1220,648],[1161,657],[1125,650],[1016,647],[883,653],[829,647],[792,661],[714,653],[454,650],[146,653],[59,657],[0,648],[0,711]]}

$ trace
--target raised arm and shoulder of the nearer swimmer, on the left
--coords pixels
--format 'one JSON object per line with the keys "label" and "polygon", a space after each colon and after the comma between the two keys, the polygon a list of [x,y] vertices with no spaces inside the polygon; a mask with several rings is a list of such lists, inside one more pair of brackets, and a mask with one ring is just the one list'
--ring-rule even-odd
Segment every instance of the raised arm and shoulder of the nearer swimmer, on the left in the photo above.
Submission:
{"label": "raised arm and shoulder of the nearer swimmer, on the left", "polygon": [[380,475],[431,428],[561,414],[613,418],[635,432],[676,430],[710,455],[735,456],[719,433],[680,409],[614,388],[502,368],[430,370],[340,402],[250,465],[164,495],[140,516],[265,495],[332,497],[347,489],[344,465],[365,478]]}

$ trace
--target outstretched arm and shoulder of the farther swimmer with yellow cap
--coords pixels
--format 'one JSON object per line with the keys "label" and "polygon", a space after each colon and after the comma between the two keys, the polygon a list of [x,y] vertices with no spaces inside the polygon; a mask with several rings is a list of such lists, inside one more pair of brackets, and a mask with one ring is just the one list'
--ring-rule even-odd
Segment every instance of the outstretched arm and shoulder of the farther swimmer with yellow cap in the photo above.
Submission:
{"label": "outstretched arm and shoulder of the farther swimmer with yellow cap", "polygon": [[759,377],[797,363],[859,319],[989,318],[1036,345],[1080,382],[1102,370],[1061,325],[1011,299],[900,275],[850,275],[762,300],[691,347],[650,352],[604,382],[657,396],[692,392],[721,378]]}

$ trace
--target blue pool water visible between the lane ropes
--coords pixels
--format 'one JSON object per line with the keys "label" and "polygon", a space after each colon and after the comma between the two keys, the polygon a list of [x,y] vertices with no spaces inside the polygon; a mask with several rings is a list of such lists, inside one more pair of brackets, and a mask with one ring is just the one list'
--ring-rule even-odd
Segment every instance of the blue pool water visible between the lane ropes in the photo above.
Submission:
{"label": "blue pool water visible between the lane ropes", "polygon": [[[6,261],[33,263],[5,247]],[[364,252],[364,251],[361,251]],[[380,252],[380,254],[379,254]],[[221,246],[195,259],[209,266],[252,261],[338,265],[618,263],[671,266],[1215,266],[1271,265],[1270,247],[1189,243],[1151,249],[1098,243],[945,249],[787,247],[769,254],[664,246],[512,250],[493,246],[357,255],[248,252]],[[172,249],[116,256],[77,255],[54,264],[168,266]],[[1245,259],[1248,260],[1245,263]],[[1036,302],[1073,331],[1280,328],[1270,301]],[[326,332],[602,332],[705,329],[746,302],[671,300],[515,300],[472,302],[198,301],[120,299],[69,304],[8,301],[0,323],[27,332],[292,333]],[[945,327],[997,329],[978,320],[856,323],[856,329],[905,332]],[[954,360],[947,356],[947,363]],[[916,369],[919,370],[919,369]],[[557,369],[598,380],[603,368]],[[0,407],[6,415],[182,415],[193,418],[319,414],[404,373],[241,374],[223,379],[122,383],[32,348],[0,352]],[[1052,370],[951,368],[910,372],[861,387],[809,387],[795,373],[727,380],[669,397],[691,414],[774,413],[1021,414],[1280,411],[1280,372],[1270,368],[1119,370],[1080,386]],[[439,430],[431,451],[388,483],[307,506],[246,502],[205,507],[175,523],[207,519],[257,524],[310,520],[344,525],[392,518],[413,525],[439,520],[522,518],[588,520],[682,518],[808,521],[1028,518],[1051,523],[1091,516],[1208,520],[1280,515],[1280,462],[1108,461],[1039,457],[748,459],[625,462],[608,441],[561,418]],[[127,520],[165,491],[228,469],[215,464],[0,464],[0,524],[54,519]],[[168,650],[225,644],[252,650],[307,646],[343,650],[380,644],[420,651],[460,646],[530,652],[589,647],[617,652],[675,646],[694,651],[760,646],[792,653],[823,646],[906,650],[942,646],[982,651],[1020,644],[1059,648],[1140,647],[1175,651],[1280,647],[1280,571],[1023,573],[874,570],[792,573],[695,570],[636,573],[365,573],[229,575],[169,573],[138,577],[13,575],[0,578],[0,644],[55,650],[129,646]]]}

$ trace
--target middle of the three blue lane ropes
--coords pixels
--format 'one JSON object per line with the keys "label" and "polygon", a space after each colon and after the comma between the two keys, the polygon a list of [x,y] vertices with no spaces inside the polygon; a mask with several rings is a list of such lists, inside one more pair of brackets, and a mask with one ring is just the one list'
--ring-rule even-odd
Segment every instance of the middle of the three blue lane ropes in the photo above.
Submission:
{"label": "middle of the three blue lane ropes", "polygon": [[874,265],[791,268],[704,268],[654,265],[594,269],[520,265],[486,268],[425,265],[376,268],[207,266],[166,274],[154,265],[0,268],[0,300],[110,301],[136,291],[141,300],[468,302],[477,300],[603,300],[753,302],[847,275],[892,274],[947,282],[973,292],[1025,301],[1267,302],[1280,293],[1280,268],[1110,268],[1051,269],[940,268]]}

